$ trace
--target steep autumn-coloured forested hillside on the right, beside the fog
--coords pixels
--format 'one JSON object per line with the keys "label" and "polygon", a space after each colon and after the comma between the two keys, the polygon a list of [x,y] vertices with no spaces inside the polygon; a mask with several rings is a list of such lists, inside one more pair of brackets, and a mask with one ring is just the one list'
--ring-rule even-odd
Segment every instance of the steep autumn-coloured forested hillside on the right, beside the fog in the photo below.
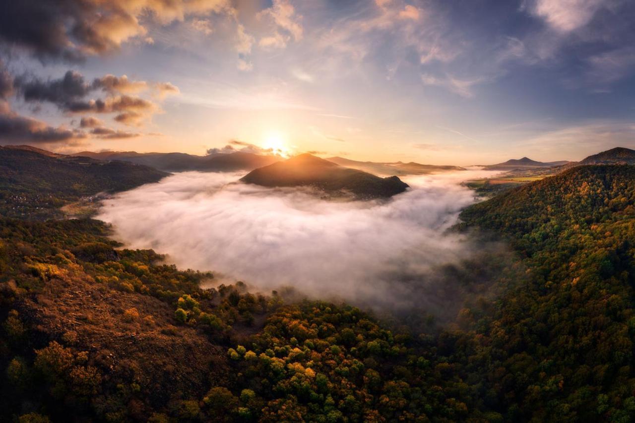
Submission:
{"label": "steep autumn-coloured forested hillside on the right, beside the fog", "polygon": [[453,356],[511,420],[635,418],[635,167],[578,166],[471,206],[526,272]]}

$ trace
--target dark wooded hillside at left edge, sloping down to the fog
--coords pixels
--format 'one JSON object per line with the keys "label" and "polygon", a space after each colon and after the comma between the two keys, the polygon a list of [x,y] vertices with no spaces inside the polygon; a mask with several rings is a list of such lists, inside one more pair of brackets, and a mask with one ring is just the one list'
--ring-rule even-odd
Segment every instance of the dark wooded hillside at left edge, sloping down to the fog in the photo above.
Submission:
{"label": "dark wooded hillside at left edge, sloping down to the fog", "polygon": [[0,147],[0,212],[46,218],[60,206],[102,191],[157,182],[168,173],[121,161],[65,156],[34,147]]}

